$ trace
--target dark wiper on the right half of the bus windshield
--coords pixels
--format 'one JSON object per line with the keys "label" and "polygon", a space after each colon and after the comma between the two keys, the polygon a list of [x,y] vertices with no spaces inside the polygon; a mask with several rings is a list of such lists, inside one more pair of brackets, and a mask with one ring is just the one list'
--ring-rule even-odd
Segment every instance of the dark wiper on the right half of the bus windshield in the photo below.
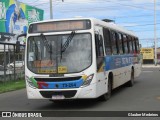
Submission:
{"label": "dark wiper on the right half of the bus windshield", "polygon": [[75,31],[72,31],[71,34],[68,36],[66,42],[61,46],[61,53],[65,52],[68,48],[70,42],[72,41],[73,37],[75,35]]}

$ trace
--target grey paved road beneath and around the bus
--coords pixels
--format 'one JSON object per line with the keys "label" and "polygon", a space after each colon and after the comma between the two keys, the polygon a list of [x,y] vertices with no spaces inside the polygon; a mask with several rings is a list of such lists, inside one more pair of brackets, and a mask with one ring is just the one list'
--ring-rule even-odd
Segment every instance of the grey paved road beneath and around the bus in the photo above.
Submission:
{"label": "grey paved road beneath and around the bus", "polygon": [[[120,87],[110,100],[77,100],[62,105],[48,100],[28,100],[25,89],[0,94],[0,111],[87,110],[87,111],[160,111],[160,68],[143,68],[133,87]],[[117,120],[117,119],[116,119]],[[142,119],[143,120],[143,119]],[[148,119],[147,119],[148,120]],[[154,118],[152,120],[155,120]]]}

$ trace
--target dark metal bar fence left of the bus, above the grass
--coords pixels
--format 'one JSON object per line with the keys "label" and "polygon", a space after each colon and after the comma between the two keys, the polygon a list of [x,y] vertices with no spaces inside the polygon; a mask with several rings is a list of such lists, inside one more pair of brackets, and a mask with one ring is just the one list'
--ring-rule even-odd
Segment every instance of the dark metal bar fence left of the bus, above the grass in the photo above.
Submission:
{"label": "dark metal bar fence left of the bus, above the grass", "polygon": [[16,53],[16,45],[0,42],[0,83],[24,79],[24,52],[21,45],[20,53]]}

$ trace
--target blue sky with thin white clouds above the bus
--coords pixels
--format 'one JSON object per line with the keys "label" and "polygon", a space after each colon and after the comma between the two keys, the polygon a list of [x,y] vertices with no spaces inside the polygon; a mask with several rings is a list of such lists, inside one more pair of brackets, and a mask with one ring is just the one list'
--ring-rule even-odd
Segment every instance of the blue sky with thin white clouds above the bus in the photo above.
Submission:
{"label": "blue sky with thin white clouds above the bus", "polygon": [[[49,0],[19,0],[43,9],[50,19]],[[160,0],[156,0],[157,42],[160,47]],[[53,0],[53,19],[76,16],[112,19],[134,31],[143,47],[154,45],[154,0]]]}

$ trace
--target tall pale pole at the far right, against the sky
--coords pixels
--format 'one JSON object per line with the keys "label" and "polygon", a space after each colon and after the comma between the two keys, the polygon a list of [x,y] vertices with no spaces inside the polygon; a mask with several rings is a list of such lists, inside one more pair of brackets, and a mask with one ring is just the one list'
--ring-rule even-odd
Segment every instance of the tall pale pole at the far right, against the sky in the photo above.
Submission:
{"label": "tall pale pole at the far right, against the sky", "polygon": [[157,66],[156,0],[154,0],[154,64]]}

